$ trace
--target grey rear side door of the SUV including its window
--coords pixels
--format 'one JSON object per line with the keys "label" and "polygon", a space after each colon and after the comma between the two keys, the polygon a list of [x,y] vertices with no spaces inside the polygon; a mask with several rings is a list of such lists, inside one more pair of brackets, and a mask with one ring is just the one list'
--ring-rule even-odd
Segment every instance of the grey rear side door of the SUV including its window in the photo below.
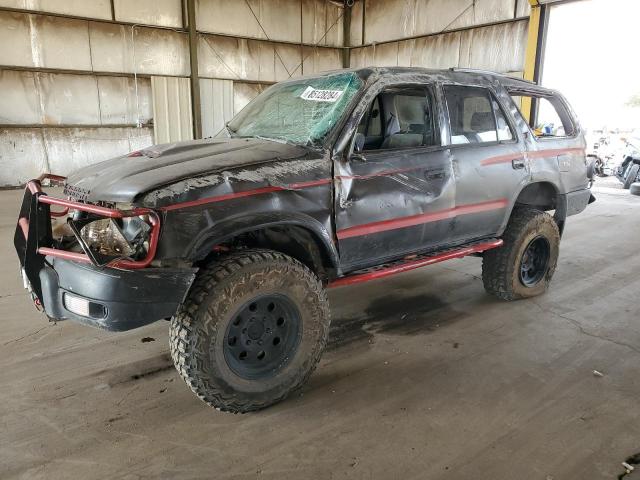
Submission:
{"label": "grey rear side door of the SUV including its window", "polygon": [[529,179],[528,160],[512,118],[492,89],[444,85],[443,91],[456,172],[452,241],[494,236]]}

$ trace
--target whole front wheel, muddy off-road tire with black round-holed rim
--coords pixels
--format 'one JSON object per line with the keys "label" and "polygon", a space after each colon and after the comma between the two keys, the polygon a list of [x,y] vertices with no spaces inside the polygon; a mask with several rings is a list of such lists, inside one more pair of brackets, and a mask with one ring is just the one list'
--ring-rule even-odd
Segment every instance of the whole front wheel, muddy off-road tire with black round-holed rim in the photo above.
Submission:
{"label": "whole front wheel, muddy off-road tire with black round-holed rim", "polygon": [[171,321],[176,369],[218,410],[243,413],[284,399],[315,369],[329,332],[320,280],[270,250],[203,268]]}

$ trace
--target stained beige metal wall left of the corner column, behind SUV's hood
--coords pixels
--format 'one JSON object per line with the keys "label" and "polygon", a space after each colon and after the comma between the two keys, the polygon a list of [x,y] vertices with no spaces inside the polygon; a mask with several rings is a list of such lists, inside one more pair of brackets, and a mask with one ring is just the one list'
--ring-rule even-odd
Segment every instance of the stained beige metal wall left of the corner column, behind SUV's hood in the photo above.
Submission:
{"label": "stained beige metal wall left of the corner column, behind SUV's hood", "polygon": [[[342,66],[340,8],[248,4],[196,2],[204,135],[266,86]],[[182,0],[0,0],[0,186],[190,138],[186,18]]]}

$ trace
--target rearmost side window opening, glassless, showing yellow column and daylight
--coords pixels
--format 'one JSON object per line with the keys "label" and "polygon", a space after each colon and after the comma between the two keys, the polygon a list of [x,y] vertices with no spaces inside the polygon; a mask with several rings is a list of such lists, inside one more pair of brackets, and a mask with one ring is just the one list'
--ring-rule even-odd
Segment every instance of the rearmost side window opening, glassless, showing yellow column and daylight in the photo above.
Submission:
{"label": "rearmost side window opening, glassless, showing yellow column and daylight", "polygon": [[529,119],[531,131],[537,138],[568,137],[575,133],[573,120],[560,99],[517,92],[513,92],[511,98],[522,116]]}

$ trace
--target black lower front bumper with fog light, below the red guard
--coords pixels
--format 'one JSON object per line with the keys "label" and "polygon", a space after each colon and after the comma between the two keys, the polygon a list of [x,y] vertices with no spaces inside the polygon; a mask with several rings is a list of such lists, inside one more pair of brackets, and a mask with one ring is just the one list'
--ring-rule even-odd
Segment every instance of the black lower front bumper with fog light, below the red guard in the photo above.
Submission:
{"label": "black lower front bumper with fog light, below the red guard", "polygon": [[[39,272],[40,300],[55,320],[75,320],[111,331],[131,330],[173,316],[196,271],[118,270],[47,257]],[[87,314],[69,309],[77,312],[83,304]]]}

